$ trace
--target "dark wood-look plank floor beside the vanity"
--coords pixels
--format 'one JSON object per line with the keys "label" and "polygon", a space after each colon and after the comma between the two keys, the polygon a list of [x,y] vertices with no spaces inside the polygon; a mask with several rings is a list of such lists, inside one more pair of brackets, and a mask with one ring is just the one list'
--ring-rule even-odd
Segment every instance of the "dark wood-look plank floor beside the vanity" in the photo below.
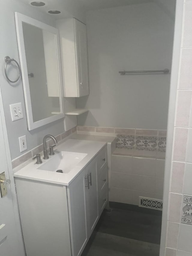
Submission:
{"label": "dark wood-look plank floor beside the vanity", "polygon": [[111,203],[104,211],[82,256],[158,256],[161,212]]}

